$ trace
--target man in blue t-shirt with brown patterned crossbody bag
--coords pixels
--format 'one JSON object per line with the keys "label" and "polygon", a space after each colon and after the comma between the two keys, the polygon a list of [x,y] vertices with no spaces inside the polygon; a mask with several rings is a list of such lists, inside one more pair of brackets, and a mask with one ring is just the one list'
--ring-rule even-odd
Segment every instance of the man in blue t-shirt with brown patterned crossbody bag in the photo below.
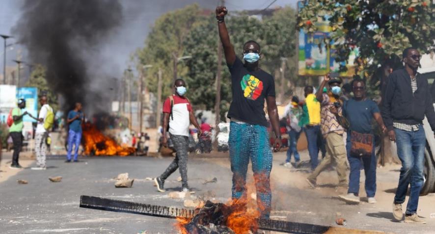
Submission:
{"label": "man in blue t-shirt with brown patterned crossbody bag", "polygon": [[[386,132],[378,105],[366,97],[366,85],[362,79],[351,83],[354,97],[343,104],[343,116],[350,128],[347,133],[346,150],[351,167],[348,194],[339,196],[348,203],[359,203],[359,178],[361,163],[364,166],[365,191],[368,203],[376,203],[376,156],[373,119],[382,132]],[[361,162],[362,161],[362,162]]]}

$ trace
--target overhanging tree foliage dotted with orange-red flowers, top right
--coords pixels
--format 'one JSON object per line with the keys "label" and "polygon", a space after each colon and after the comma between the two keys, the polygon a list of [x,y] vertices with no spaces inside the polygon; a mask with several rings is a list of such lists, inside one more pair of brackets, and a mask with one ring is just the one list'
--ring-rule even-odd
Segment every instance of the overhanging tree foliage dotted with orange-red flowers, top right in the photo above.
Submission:
{"label": "overhanging tree foliage dotted with orange-red flowers, top right", "polygon": [[[316,23],[330,16],[336,60],[346,61],[349,48],[358,47],[357,75],[370,79],[380,65],[401,57],[407,47],[429,51],[435,38],[434,13],[430,0],[309,0],[299,13],[298,26],[314,32]],[[375,84],[372,91],[378,90],[379,80],[370,83]]]}

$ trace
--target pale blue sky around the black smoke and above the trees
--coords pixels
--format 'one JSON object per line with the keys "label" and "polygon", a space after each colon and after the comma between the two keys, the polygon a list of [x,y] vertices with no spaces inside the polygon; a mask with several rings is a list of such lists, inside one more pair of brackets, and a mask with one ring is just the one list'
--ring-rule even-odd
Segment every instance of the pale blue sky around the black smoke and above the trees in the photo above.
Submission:
{"label": "pale blue sky around the black smoke and above the trees", "polygon": [[[35,0],[36,1],[36,0]],[[85,2],[85,0],[82,0]],[[273,0],[226,0],[227,8],[231,10],[263,9]],[[0,34],[11,35],[12,27],[20,18],[20,6],[24,0],[0,0]],[[127,67],[129,54],[136,48],[142,47],[149,29],[154,21],[163,13],[181,8],[194,2],[204,8],[214,9],[220,0],[120,0],[124,7],[125,23],[119,28],[116,36],[102,46],[102,53],[113,59],[113,66],[120,74]],[[297,0],[276,0],[270,7],[290,5],[296,7]],[[14,40],[8,40],[8,44]],[[3,41],[0,41],[0,60],[3,63]],[[23,51],[23,60],[26,61],[26,49],[14,46],[7,51],[7,65],[14,65],[11,61],[16,59],[17,51]],[[2,72],[2,66],[1,66]]]}

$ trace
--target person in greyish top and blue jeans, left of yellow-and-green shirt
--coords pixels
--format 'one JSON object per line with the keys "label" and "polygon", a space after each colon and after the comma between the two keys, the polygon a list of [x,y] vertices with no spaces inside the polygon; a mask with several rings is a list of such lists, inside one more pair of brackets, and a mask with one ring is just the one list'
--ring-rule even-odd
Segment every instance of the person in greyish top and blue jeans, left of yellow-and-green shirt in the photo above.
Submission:
{"label": "person in greyish top and blue jeans, left of yellow-and-green shirt", "polygon": [[287,131],[289,134],[289,149],[287,150],[287,158],[284,166],[290,167],[290,160],[292,154],[295,157],[295,167],[299,166],[299,152],[297,149],[299,135],[301,127],[299,126],[300,117],[302,115],[302,109],[299,106],[299,98],[297,96],[292,97],[292,102],[288,106],[287,113],[284,114],[287,117]]}

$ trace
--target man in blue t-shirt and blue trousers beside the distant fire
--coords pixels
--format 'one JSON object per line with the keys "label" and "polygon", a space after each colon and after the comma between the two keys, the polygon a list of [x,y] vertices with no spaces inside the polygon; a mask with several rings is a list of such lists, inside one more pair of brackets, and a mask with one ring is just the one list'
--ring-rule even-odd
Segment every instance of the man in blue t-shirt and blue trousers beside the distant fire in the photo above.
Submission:
{"label": "man in blue t-shirt and blue trousers beside the distant fire", "polygon": [[67,123],[68,130],[68,153],[65,162],[71,162],[71,151],[74,149],[74,161],[78,162],[79,147],[82,140],[82,122],[84,121],[84,113],[82,112],[82,103],[76,103],[73,110],[68,113]]}

